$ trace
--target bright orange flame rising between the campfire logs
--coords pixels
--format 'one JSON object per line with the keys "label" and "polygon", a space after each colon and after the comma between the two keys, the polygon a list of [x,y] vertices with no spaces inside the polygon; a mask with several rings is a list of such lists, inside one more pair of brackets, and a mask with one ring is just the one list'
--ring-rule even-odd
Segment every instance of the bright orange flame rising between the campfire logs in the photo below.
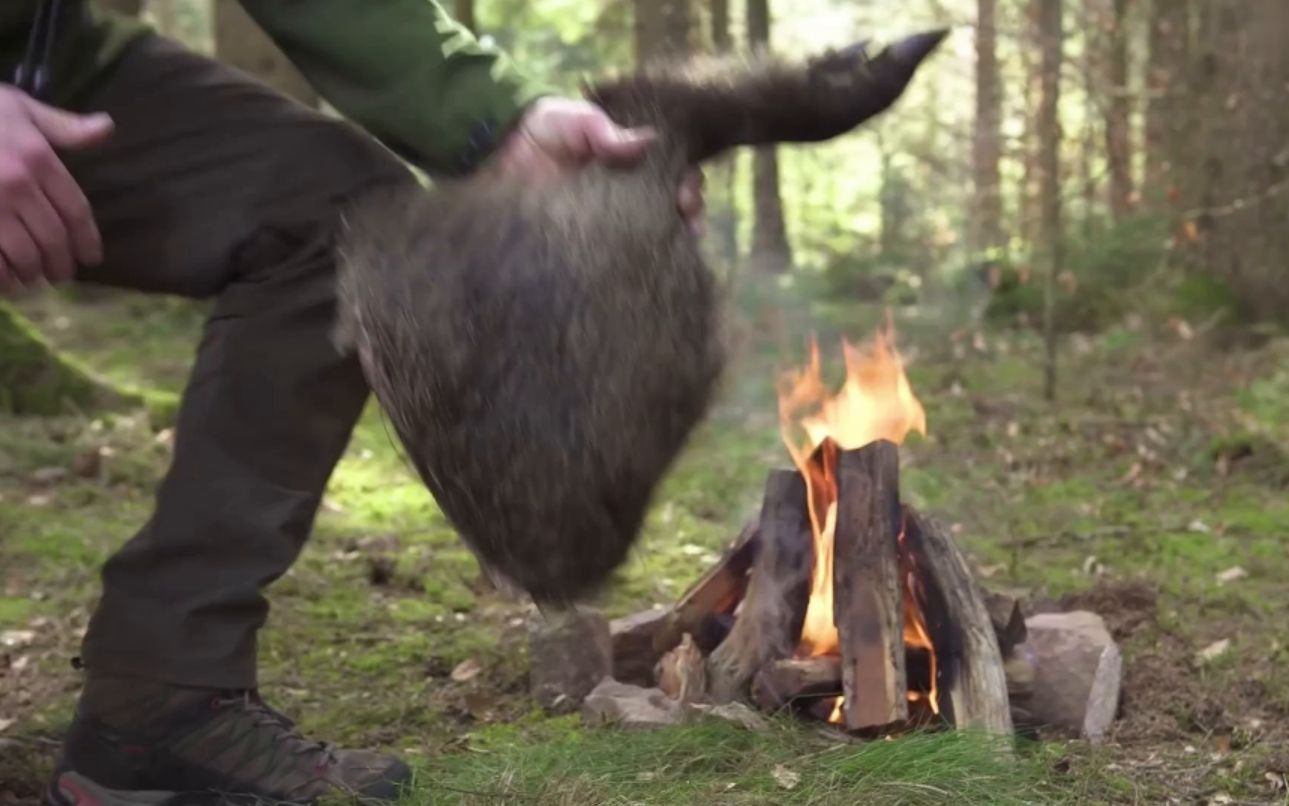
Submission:
{"label": "bright orange flame rising between the campfire logs", "polygon": [[[865,348],[842,340],[846,382],[830,395],[824,386],[819,344],[811,340],[809,364],[788,371],[779,387],[779,424],[784,444],[806,480],[811,531],[815,538],[815,570],[809,604],[802,627],[798,655],[835,655],[840,651],[833,620],[833,540],[837,526],[837,459],[840,450],[855,450],[877,440],[901,444],[910,431],[927,435],[927,415],[913,393],[904,362],[896,352],[893,328],[887,321]],[[804,432],[794,437],[798,431]],[[904,531],[900,534],[901,548]],[[931,650],[935,681],[935,649],[919,606],[916,569],[911,553],[901,551],[904,578],[904,640],[909,647]],[[905,567],[907,566],[907,567]],[[916,691],[910,699],[920,698]],[[837,698],[829,722],[840,723],[842,700]],[[938,713],[936,693],[931,707]]]}

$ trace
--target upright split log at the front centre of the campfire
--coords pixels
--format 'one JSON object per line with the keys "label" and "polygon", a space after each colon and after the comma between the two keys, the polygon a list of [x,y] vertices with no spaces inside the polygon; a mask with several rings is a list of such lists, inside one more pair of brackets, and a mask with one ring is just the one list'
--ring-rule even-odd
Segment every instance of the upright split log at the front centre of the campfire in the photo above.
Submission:
{"label": "upright split log at the front centre of the campfire", "polygon": [[909,717],[900,584],[900,453],[882,440],[838,459],[834,622],[851,730]]}

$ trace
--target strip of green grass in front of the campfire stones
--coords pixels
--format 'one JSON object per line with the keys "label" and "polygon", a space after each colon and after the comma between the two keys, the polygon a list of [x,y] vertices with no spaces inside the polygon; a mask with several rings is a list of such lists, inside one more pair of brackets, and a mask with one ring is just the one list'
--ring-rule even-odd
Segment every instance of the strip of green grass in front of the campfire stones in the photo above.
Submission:
{"label": "strip of green grass in front of the campfire stones", "polygon": [[663,731],[581,729],[572,718],[482,731],[419,766],[409,803],[1056,802],[1042,753],[982,736],[911,735],[848,745],[794,725],[754,734],[722,722]]}

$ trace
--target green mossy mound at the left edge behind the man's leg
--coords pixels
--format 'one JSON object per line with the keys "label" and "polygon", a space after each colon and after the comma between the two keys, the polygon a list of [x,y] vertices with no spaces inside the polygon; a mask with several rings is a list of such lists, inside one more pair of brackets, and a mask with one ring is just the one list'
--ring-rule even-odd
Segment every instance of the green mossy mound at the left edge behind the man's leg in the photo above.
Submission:
{"label": "green mossy mound at the left edge behind the man's leg", "polygon": [[0,411],[53,415],[141,402],[61,355],[26,317],[0,304]]}

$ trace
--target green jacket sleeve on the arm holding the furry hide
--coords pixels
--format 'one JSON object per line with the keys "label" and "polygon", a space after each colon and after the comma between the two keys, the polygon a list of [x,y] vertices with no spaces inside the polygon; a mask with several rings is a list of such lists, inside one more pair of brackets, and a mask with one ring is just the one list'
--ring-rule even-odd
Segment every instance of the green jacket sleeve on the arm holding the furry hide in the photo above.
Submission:
{"label": "green jacket sleeve on the arm holding the furry hide", "polygon": [[434,0],[241,0],[318,94],[431,175],[460,175],[554,94]]}

